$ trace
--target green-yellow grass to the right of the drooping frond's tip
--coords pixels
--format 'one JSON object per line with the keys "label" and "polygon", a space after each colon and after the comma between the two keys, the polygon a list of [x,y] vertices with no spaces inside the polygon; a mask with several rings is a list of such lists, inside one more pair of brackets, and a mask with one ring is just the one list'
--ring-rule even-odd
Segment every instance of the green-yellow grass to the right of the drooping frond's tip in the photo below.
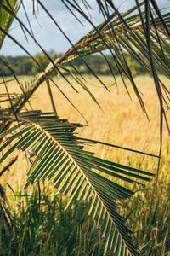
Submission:
{"label": "green-yellow grass to the right of the drooping frond's tip", "polygon": [[[152,183],[145,191],[123,202],[127,225],[133,227],[134,241],[144,256],[168,255],[170,252],[169,178],[161,176],[159,189]],[[138,211],[132,211],[138,206]],[[131,221],[130,221],[131,219]]]}

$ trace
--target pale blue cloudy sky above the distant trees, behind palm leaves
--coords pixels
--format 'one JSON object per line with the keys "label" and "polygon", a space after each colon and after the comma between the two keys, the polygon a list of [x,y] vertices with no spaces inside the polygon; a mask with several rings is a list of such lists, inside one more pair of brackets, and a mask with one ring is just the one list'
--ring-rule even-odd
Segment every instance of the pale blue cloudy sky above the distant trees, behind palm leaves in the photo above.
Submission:
{"label": "pale blue cloudy sky above the distant trees, behind palm leaves", "polygon": [[[48,15],[41,9],[41,7],[38,7],[38,11],[36,11],[37,16],[35,17],[35,15],[32,14],[32,0],[23,1],[31,22],[34,36],[38,43],[41,44],[43,49],[46,49],[47,51],[54,50],[56,53],[65,53],[65,51],[71,47],[71,44],[65,39],[62,33],[59,32],[59,29],[54,25],[54,22],[49,19]],[[73,44],[77,43],[77,41],[82,38],[83,35],[93,28],[88,21],[83,20],[82,16],[77,14],[77,11],[74,11],[77,17],[79,17],[82,21],[82,26],[80,22],[78,22],[75,17],[71,15],[68,9],[65,8],[65,5],[61,2],[61,0],[42,0],[42,3],[46,6],[50,14],[53,15],[56,22],[62,27],[65,34],[71,39]],[[90,11],[92,20],[94,21],[95,25],[98,25],[102,21],[102,15],[99,14],[99,8],[96,4],[96,0],[88,0],[88,3],[93,8],[93,10]],[[135,1],[114,0],[114,3],[120,12],[123,12],[133,7]],[[170,10],[170,0],[158,0],[157,3],[161,8],[169,8]],[[28,27],[28,22],[22,6],[18,12],[18,17]],[[26,37],[22,32],[17,20],[14,20],[9,33],[14,38],[19,40],[20,44],[24,45],[31,55],[41,52],[41,49],[38,48],[37,44],[35,44],[33,40],[29,38],[29,36],[28,41],[26,40]],[[3,42],[3,47],[0,50],[0,55],[26,55],[26,52],[14,44],[11,39],[6,37]]]}

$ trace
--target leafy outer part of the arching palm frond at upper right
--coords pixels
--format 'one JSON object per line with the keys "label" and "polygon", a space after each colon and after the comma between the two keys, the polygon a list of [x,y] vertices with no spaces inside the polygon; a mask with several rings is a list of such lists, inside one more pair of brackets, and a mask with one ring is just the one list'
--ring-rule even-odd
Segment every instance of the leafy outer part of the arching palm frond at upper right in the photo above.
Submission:
{"label": "leafy outer part of the arching palm frond at upper right", "polygon": [[[143,4],[144,2],[140,3],[140,5]],[[90,55],[111,47],[111,49],[114,50],[116,60],[119,63],[118,65],[122,68],[122,71],[127,72],[122,55],[120,54],[123,52],[133,55],[133,57],[139,61],[144,68],[151,72],[149,66],[150,55],[147,42],[145,40],[144,28],[139,14],[133,14],[136,9],[137,7],[134,7],[122,15],[127,26],[122,25],[121,21],[118,20],[116,13],[111,15],[110,21],[106,20],[97,27],[98,32],[94,29],[79,40],[77,44],[75,44],[77,51],[75,51],[74,48],[71,48],[67,52],[68,57],[62,63],[73,61],[74,59],[79,58],[80,55]],[[144,12],[142,15],[145,22]],[[162,17],[164,18],[167,27],[170,29],[170,13],[162,15]],[[154,23],[156,25],[159,38],[156,35]],[[156,67],[161,68],[161,72],[169,79],[170,73],[168,72],[168,69],[170,65],[170,46],[161,21],[157,16],[154,20],[150,20],[150,36],[152,39],[152,50]],[[163,52],[159,45],[159,39],[161,40]],[[142,58],[142,56],[144,56],[144,58]],[[160,63],[162,64],[162,67],[160,67]]]}

